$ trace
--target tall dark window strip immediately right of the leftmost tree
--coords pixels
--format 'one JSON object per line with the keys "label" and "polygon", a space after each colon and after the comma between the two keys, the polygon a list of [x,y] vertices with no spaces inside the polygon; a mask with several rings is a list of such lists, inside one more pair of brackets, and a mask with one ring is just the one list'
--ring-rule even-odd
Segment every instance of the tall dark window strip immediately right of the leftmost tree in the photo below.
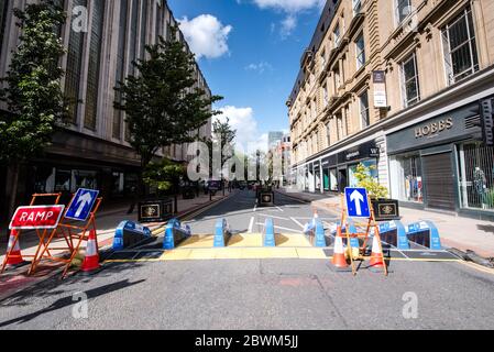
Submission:
{"label": "tall dark window strip immediately right of the leftmost tree", "polygon": [[[74,0],[73,8],[87,7],[87,0]],[[67,50],[67,68],[65,72],[65,96],[69,100],[68,116],[72,123],[77,123],[80,92],[80,74],[84,52],[84,31],[70,31]]]}

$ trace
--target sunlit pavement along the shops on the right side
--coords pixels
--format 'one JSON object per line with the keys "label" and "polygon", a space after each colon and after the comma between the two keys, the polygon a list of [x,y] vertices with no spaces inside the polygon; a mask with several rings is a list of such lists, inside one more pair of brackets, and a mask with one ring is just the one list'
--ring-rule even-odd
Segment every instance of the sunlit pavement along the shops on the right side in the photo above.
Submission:
{"label": "sunlit pavement along the shops on the right side", "polygon": [[[314,207],[336,215],[341,213],[340,197],[294,193],[278,189],[279,193],[300,200],[311,202]],[[432,221],[439,230],[443,246],[455,248],[465,252],[471,250],[484,257],[494,257],[494,222],[460,218],[433,211],[408,209],[400,207],[402,221],[406,226],[420,220]]]}

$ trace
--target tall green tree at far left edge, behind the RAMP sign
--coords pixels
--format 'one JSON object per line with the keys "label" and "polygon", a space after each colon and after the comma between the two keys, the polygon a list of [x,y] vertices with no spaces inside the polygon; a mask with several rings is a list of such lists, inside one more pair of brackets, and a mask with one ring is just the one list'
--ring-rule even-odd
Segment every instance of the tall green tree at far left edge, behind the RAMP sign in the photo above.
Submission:
{"label": "tall green tree at far left edge, behind the RAMP sign", "polygon": [[63,9],[45,0],[13,12],[22,34],[7,77],[1,79],[7,87],[0,90],[9,109],[0,116],[0,162],[9,165],[12,175],[10,213],[15,207],[21,164],[51,143],[66,114],[59,67],[65,50],[58,35],[65,22]]}

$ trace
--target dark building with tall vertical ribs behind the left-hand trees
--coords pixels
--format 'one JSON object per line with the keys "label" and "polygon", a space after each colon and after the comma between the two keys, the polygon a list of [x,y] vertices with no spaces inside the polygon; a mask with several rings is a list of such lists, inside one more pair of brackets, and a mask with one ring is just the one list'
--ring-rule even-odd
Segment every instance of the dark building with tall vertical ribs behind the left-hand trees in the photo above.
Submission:
{"label": "dark building with tall vertical ribs behind the left-hand trees", "polygon": [[[19,43],[12,9],[22,9],[25,2],[0,0],[1,77],[8,70],[11,51]],[[123,113],[113,109],[113,87],[134,73],[131,62],[145,55],[144,45],[156,43],[158,35],[169,37],[171,28],[177,22],[166,0],[61,0],[61,3],[68,14],[62,29],[67,48],[62,61],[66,72],[63,89],[79,102],[70,108],[70,123],[54,135],[44,157],[23,168],[19,197],[25,200],[34,191],[70,193],[78,187],[98,188],[107,200],[123,197],[136,185],[140,160],[128,143]],[[85,19],[84,9],[87,31],[74,30],[74,21]],[[177,35],[185,43],[183,34]],[[197,86],[210,95],[198,66],[196,75]],[[190,133],[210,136],[211,121]],[[186,161],[186,151],[187,145],[175,145],[160,155]],[[4,194],[10,188],[10,177],[3,174],[0,178]]]}

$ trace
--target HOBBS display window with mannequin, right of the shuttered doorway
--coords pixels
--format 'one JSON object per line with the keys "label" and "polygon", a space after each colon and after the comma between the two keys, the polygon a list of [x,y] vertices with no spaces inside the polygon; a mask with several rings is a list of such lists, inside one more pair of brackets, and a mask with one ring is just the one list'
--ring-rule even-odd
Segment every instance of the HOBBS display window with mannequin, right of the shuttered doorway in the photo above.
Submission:
{"label": "HOBBS display window with mannequin, right of the shuttered doorway", "polygon": [[459,160],[462,208],[494,211],[494,147],[460,145]]}

